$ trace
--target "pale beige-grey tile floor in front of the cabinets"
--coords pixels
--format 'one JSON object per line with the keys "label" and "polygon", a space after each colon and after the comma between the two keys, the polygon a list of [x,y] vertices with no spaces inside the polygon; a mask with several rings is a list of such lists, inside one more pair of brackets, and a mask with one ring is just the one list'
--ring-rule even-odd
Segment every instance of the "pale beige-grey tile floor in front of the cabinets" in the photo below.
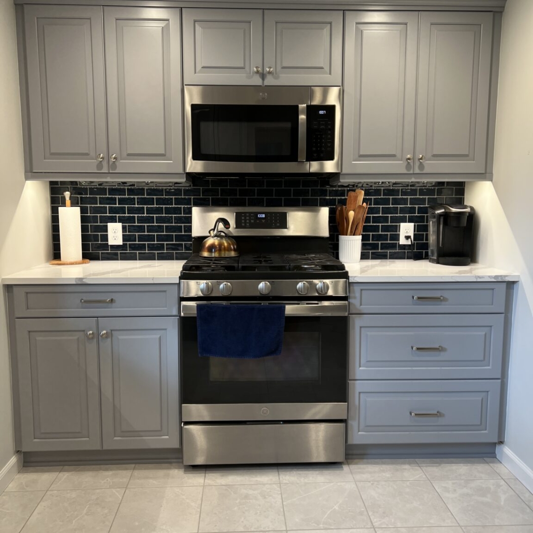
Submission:
{"label": "pale beige-grey tile floor in front of the cabinets", "polygon": [[25,468],[0,533],[533,533],[533,495],[496,459]]}

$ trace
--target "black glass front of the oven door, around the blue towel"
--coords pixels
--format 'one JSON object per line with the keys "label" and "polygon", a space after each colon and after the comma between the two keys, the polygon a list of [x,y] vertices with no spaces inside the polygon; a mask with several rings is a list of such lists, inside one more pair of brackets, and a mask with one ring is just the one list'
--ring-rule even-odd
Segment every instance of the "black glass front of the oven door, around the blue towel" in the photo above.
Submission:
{"label": "black glass front of the oven door, around the blue towel", "polygon": [[196,317],[180,337],[183,403],[346,401],[348,317],[287,316],[281,354],[261,359],[199,357]]}

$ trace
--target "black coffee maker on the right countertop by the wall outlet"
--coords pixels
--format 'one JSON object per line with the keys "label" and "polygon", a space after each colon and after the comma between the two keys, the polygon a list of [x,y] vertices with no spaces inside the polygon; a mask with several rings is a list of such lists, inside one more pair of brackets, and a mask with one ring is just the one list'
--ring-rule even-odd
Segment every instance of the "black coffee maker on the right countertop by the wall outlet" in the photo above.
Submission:
{"label": "black coffee maker on the right countertop by the wall outlet", "polygon": [[430,205],[430,263],[465,266],[472,253],[474,208],[469,205]]}

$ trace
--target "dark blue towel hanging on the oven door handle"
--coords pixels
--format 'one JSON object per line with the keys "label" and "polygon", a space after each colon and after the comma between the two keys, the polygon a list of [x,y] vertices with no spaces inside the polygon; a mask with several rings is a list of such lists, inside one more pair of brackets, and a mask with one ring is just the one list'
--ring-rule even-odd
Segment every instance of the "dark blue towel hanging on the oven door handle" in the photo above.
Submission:
{"label": "dark blue towel hanging on the oven door handle", "polygon": [[285,305],[196,307],[200,357],[257,359],[279,356],[285,329]]}

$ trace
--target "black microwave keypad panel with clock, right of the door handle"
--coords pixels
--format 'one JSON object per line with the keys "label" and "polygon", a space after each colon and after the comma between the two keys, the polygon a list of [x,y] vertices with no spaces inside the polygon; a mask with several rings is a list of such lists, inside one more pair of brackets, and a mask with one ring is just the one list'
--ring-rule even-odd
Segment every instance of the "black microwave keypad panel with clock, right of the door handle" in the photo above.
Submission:
{"label": "black microwave keypad panel with clock, right of the door handle", "polygon": [[335,159],[335,106],[307,106],[308,161]]}

